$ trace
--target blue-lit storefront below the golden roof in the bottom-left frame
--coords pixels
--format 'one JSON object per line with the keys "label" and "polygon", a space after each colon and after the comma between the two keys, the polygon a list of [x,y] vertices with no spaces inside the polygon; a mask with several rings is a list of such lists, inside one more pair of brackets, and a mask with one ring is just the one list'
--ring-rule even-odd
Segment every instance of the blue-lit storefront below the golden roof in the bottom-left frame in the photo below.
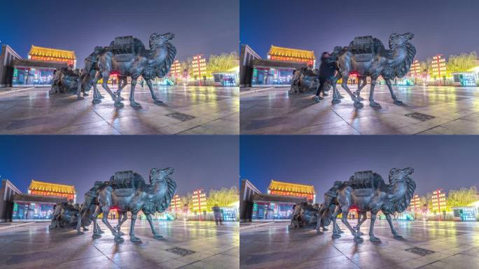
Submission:
{"label": "blue-lit storefront below the golden roof in the bottom-left frame", "polygon": [[54,207],[60,202],[67,202],[67,198],[15,194],[12,221],[51,221]]}

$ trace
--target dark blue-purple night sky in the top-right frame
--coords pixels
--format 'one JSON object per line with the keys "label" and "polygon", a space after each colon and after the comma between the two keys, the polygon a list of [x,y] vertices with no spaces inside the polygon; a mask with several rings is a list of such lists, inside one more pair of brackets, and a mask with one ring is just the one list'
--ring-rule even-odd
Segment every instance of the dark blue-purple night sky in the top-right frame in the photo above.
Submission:
{"label": "dark blue-purple night sky in the top-right frame", "polygon": [[271,45],[314,50],[316,57],[355,36],[412,32],[417,58],[479,53],[477,0],[241,0],[240,41],[266,57]]}

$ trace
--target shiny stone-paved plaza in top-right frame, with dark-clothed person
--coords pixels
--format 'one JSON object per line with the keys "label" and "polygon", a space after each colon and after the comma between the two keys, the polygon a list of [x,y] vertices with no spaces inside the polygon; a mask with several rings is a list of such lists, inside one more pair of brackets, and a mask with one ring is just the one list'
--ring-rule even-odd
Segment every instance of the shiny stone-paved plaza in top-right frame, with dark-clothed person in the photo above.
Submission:
{"label": "shiny stone-paved plaza in top-right frame, with dark-clothed person", "polygon": [[[357,87],[349,86],[352,90]],[[361,92],[363,109],[354,109],[349,95],[331,104],[331,93],[316,103],[313,92],[289,95],[289,88],[241,90],[240,133],[262,135],[478,135],[479,88],[394,86],[403,105],[395,105],[385,85],[375,88],[369,106],[369,87]],[[429,118],[411,118],[422,113]]]}

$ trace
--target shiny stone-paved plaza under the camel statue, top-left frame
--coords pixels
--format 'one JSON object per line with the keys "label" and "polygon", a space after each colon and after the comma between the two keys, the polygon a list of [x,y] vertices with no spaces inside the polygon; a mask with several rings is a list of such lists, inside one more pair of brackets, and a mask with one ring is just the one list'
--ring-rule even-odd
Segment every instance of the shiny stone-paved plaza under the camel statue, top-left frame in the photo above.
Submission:
{"label": "shiny stone-paved plaza under the camel statue, top-left frame", "polygon": [[[49,95],[50,88],[1,92],[0,134],[237,135],[240,132],[239,88],[154,88],[164,104],[154,104],[148,87],[137,85],[135,100],[141,108],[135,109],[128,100],[130,85],[122,92],[123,109],[115,109],[102,86],[99,90],[105,98],[100,104],[92,104],[91,95],[83,100],[74,95]],[[186,118],[178,113],[186,114]]]}

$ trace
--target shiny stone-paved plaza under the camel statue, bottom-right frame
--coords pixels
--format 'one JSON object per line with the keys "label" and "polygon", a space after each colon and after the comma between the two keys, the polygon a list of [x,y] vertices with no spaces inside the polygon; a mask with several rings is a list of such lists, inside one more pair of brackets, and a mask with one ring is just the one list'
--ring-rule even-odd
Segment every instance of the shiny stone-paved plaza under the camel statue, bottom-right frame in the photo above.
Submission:
{"label": "shiny stone-paved plaza under the camel statue, bottom-right frame", "polygon": [[[351,221],[356,224],[356,221]],[[331,238],[331,230],[288,230],[289,223],[268,223],[241,228],[241,268],[479,268],[479,222],[394,221],[403,240],[395,240],[387,221],[376,221],[369,241],[369,220],[361,226],[363,244],[354,244],[349,230]],[[330,226],[331,228],[331,226]],[[434,251],[421,256],[405,251],[419,247]]]}

